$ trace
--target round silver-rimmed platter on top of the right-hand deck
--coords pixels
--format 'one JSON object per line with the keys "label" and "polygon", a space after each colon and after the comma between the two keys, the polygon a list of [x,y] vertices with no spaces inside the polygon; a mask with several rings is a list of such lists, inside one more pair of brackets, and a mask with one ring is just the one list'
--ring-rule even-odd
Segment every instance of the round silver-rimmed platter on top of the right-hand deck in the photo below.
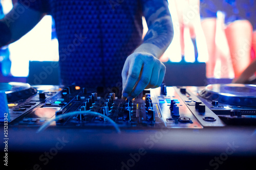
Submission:
{"label": "round silver-rimmed platter on top of the right-hand deck", "polygon": [[199,92],[207,100],[237,106],[256,106],[256,85],[211,84]]}

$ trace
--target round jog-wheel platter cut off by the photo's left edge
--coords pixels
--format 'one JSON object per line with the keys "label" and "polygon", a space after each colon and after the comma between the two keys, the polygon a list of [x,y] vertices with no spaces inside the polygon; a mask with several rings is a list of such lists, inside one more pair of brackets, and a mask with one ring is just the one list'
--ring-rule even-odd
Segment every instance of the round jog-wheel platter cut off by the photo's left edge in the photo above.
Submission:
{"label": "round jog-wheel platter cut off by the photo's left edge", "polygon": [[0,83],[0,91],[5,91],[8,102],[27,99],[37,93],[37,90],[27,83]]}

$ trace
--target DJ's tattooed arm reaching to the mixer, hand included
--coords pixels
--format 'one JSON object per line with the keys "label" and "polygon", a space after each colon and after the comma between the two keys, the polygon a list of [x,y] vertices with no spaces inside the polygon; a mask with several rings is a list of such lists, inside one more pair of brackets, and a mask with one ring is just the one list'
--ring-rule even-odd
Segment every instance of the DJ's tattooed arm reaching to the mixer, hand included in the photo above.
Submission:
{"label": "DJ's tattooed arm reaching to the mixer, hand included", "polygon": [[122,70],[122,95],[129,100],[145,88],[156,88],[161,85],[165,66],[159,58],[173,39],[173,23],[167,1],[143,2],[148,32],[144,42],[127,57]]}

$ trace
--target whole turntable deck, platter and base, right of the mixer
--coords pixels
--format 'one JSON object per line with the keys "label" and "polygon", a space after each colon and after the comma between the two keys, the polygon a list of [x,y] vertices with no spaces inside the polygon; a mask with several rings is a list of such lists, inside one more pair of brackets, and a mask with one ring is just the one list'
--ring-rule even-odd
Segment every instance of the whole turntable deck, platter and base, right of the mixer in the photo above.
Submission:
{"label": "whole turntable deck, platter and base, right of the mixer", "polygon": [[256,124],[256,85],[211,84],[188,89],[226,124]]}

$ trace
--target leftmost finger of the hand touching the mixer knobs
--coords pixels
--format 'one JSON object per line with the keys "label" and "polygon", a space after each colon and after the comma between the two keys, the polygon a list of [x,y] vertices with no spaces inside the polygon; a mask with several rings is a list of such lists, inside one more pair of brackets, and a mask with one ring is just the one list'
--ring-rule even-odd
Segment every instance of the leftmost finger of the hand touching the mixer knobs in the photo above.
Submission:
{"label": "leftmost finger of the hand touching the mixer knobs", "polygon": [[128,76],[123,88],[123,96],[129,96],[131,94],[136,82],[139,79],[142,65],[143,61],[140,59],[135,59],[130,63]]}

